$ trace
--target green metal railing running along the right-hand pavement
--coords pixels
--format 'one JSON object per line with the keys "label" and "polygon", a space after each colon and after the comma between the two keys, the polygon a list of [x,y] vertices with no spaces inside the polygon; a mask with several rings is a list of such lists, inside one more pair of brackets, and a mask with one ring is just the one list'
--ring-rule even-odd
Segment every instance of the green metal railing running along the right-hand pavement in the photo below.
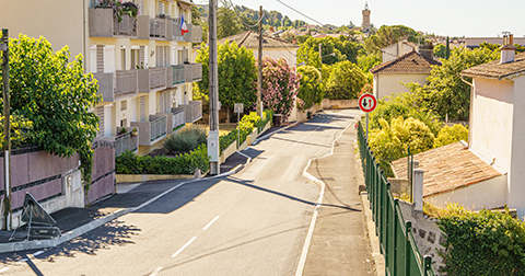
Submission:
{"label": "green metal railing running along the right-hand pavement", "polygon": [[358,124],[358,137],[375,232],[380,238],[381,253],[385,256],[386,275],[433,276],[432,257],[421,257],[413,240],[412,223],[402,218],[398,199],[392,195],[390,183],[375,162],[361,124]]}

